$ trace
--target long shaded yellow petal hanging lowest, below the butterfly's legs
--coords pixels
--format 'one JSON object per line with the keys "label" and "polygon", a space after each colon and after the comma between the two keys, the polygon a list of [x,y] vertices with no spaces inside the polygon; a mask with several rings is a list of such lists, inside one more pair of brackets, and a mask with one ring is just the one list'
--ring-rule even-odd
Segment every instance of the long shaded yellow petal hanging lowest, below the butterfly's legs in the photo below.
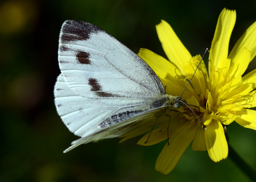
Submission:
{"label": "long shaded yellow petal hanging lowest, below the butterfly's legs", "polygon": [[156,160],[156,171],[164,175],[172,171],[193,140],[196,128],[197,125],[191,125],[191,123],[187,121],[179,131],[172,135],[169,140],[170,145],[166,143]]}

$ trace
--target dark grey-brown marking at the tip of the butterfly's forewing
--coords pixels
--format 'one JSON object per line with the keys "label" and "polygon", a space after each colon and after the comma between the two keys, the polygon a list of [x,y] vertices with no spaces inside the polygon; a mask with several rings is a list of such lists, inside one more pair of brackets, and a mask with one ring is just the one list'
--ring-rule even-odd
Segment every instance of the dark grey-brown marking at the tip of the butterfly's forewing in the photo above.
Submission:
{"label": "dark grey-brown marking at the tip of the butterfly's forewing", "polygon": [[60,42],[69,43],[71,41],[87,40],[90,38],[90,33],[97,33],[98,31],[103,30],[88,22],[67,20],[61,27]]}

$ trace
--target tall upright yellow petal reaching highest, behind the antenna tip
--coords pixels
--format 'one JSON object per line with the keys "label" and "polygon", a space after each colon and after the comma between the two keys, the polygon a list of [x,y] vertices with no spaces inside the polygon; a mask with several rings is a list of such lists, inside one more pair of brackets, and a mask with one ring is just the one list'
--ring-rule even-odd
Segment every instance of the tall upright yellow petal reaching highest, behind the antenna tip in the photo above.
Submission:
{"label": "tall upright yellow petal reaching highest, behind the antenna tip", "polygon": [[[219,16],[211,46],[211,67],[209,72],[217,70],[223,58],[228,58],[228,44],[236,22],[236,11],[224,8]],[[209,63],[210,64],[210,63]]]}

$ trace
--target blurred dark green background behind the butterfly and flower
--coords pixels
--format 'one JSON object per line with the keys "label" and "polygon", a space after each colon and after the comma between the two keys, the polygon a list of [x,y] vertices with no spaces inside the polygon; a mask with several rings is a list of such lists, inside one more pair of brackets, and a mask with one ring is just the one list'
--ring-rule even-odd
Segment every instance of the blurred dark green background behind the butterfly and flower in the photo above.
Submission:
{"label": "blurred dark green background behind the butterfly and flower", "polygon": [[[98,25],[138,53],[164,55],[155,25],[166,20],[191,55],[210,48],[221,10],[236,9],[232,48],[256,20],[256,1],[5,1],[0,4],[0,181],[249,181],[228,158],[214,163],[206,152],[185,151],[166,176],[155,172],[165,142],[140,147],[140,137],[62,151],[78,137],[54,106],[60,27],[67,19]],[[206,59],[205,59],[206,60]],[[250,70],[255,66],[250,64]],[[230,144],[256,169],[256,131],[228,126]]]}

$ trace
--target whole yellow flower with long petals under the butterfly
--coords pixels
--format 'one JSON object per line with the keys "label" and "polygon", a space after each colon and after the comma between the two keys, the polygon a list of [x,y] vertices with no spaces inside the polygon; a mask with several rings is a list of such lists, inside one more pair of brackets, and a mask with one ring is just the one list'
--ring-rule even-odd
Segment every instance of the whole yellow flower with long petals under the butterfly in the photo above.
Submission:
{"label": "whole yellow flower with long petals under the butterfly", "polygon": [[[208,72],[202,62],[182,95],[188,104],[200,108],[199,113],[198,108],[191,106],[207,129],[201,126],[193,114],[190,114],[191,117],[177,112],[170,114],[169,144],[166,143],[156,161],[156,171],[164,175],[172,171],[192,141],[193,150],[208,150],[210,158],[219,162],[228,156],[228,143],[224,134],[226,125],[236,121],[243,127],[256,129],[256,111],[248,109],[256,106],[256,92],[253,91],[256,88],[256,69],[242,77],[256,54],[256,22],[246,30],[228,55],[235,21],[236,11],[221,11],[209,51]],[[165,86],[166,94],[180,96],[201,56],[192,57],[164,20],[156,25],[156,31],[170,61],[148,49],[140,49],[138,55],[156,72]],[[150,137],[148,133],[138,144],[148,146],[166,140],[168,124],[164,122],[158,125]],[[125,134],[124,140],[131,138],[132,133]]]}

